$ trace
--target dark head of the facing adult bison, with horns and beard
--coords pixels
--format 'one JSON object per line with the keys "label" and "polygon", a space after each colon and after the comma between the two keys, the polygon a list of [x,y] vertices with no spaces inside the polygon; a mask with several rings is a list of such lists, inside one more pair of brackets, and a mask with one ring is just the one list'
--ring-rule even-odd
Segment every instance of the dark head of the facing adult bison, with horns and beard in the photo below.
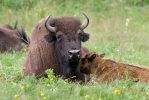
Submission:
{"label": "dark head of the facing adult bison, with horns and beard", "polygon": [[88,26],[89,19],[85,13],[83,15],[86,18],[83,24],[75,17],[51,18],[48,21],[51,16],[49,15],[45,20],[45,27],[49,31],[45,39],[55,42],[55,52],[64,78],[71,78],[80,73],[81,41],[89,39],[89,34],[83,31]]}

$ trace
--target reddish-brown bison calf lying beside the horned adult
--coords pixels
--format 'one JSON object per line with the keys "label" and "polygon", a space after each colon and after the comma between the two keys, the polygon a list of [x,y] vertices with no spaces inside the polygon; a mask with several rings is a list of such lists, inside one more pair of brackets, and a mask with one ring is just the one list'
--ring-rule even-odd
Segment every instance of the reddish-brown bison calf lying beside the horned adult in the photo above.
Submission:
{"label": "reddish-brown bison calf lying beside the horned adult", "polygon": [[132,79],[149,82],[149,68],[145,66],[129,65],[104,59],[105,54],[89,52],[82,56],[80,71],[92,74],[99,82],[111,82],[129,76]]}

